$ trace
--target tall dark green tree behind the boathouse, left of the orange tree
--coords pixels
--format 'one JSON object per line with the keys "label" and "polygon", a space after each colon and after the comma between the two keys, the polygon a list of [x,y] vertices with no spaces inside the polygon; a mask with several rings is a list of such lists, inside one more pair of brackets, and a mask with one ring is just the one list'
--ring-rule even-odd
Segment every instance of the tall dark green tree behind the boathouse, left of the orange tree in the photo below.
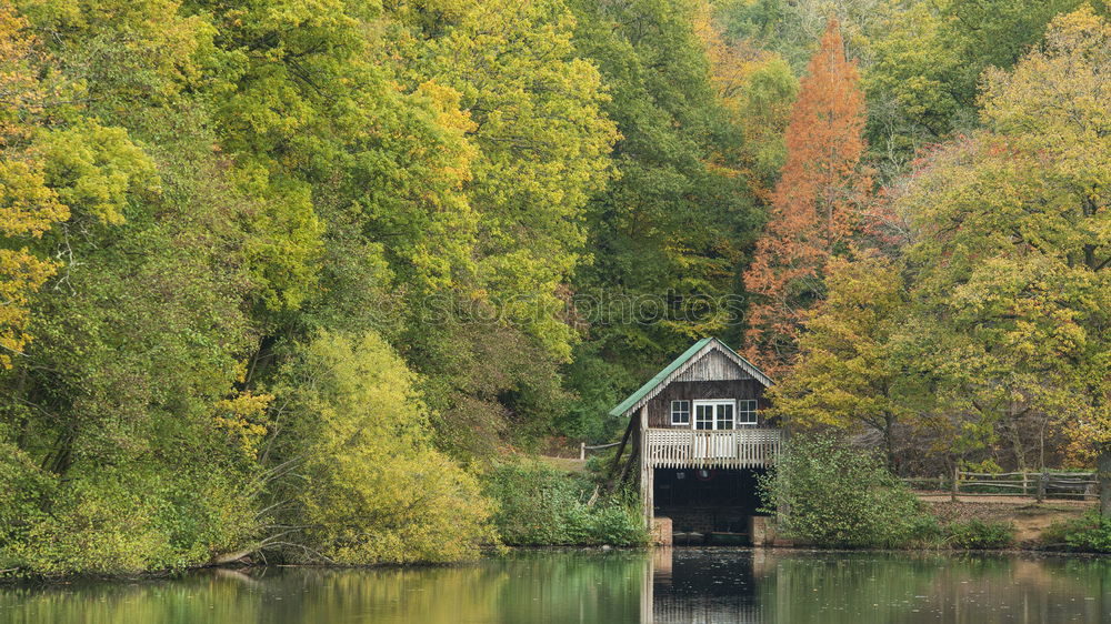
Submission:
{"label": "tall dark green tree behind the boathouse, left of the orange tree", "polygon": [[577,46],[598,63],[618,123],[618,179],[589,205],[591,262],[573,281],[587,342],[568,370],[568,432],[599,416],[697,338],[738,331],[734,293],[760,214],[740,139],[711,82],[694,2],[577,2]]}

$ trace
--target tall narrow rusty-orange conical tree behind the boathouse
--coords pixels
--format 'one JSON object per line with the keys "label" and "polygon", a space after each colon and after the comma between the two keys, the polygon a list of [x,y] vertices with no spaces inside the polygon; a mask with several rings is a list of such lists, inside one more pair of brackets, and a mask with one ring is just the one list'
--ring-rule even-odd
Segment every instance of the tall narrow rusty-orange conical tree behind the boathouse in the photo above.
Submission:
{"label": "tall narrow rusty-orange conical tree behind the boathouse", "polygon": [[775,374],[797,352],[805,311],[824,296],[827,263],[852,246],[869,178],[860,167],[864,97],[835,20],[801,81],[787,129],[787,163],[744,273],[752,295],[747,355]]}

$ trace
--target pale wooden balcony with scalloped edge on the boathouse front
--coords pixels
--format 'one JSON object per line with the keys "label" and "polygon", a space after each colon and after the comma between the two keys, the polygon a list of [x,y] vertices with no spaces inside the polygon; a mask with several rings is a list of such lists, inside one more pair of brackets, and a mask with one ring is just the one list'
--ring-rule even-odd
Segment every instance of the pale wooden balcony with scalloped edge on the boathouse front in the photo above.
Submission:
{"label": "pale wooden balcony with scalloped edge on the boathouse front", "polygon": [[783,445],[778,429],[649,429],[647,437],[649,467],[762,467],[775,463]]}

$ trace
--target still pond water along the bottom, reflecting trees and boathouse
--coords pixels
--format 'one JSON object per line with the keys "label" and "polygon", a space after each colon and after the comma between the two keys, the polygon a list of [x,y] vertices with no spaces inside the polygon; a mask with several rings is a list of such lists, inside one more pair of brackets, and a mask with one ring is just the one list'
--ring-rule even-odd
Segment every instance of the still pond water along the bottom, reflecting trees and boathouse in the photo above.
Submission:
{"label": "still pond water along the bottom, reflecting trees and boathouse", "polygon": [[1111,622],[1111,560],[695,550],[0,586],[13,623]]}

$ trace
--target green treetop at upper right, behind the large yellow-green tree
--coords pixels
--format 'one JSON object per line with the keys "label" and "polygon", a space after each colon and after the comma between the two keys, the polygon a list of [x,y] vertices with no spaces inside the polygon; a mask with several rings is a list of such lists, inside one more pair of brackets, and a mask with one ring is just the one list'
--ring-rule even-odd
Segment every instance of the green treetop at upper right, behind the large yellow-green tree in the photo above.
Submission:
{"label": "green treetop at upper right, behind the large yellow-green tree", "polygon": [[[989,68],[1011,68],[1058,14],[1085,0],[891,0],[859,46],[864,58],[869,140],[889,175],[917,150],[978,125]],[[1094,2],[1107,13],[1105,2]]]}

